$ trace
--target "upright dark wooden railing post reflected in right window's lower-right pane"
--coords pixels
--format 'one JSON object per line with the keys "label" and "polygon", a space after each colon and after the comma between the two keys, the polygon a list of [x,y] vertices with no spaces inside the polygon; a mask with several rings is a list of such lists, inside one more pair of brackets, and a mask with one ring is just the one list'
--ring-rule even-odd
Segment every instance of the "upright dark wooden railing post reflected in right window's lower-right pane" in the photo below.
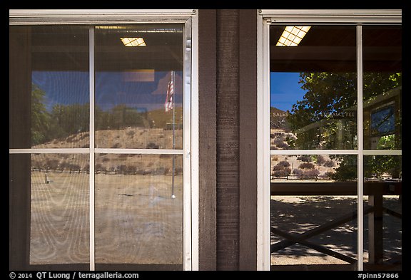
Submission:
{"label": "upright dark wooden railing post reflected in right window's lower-right pane", "polygon": [[371,185],[368,196],[368,205],[374,209],[368,214],[368,257],[370,264],[382,263],[382,187],[380,184]]}

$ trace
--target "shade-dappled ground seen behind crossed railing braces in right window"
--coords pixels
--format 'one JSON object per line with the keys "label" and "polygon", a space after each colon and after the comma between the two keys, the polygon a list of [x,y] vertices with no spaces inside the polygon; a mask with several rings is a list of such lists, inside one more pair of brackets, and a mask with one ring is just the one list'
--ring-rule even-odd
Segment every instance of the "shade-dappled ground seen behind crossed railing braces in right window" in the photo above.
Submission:
{"label": "shade-dappled ground seen behind crossed railing braces in right window", "polygon": [[[355,196],[272,196],[271,226],[286,234],[303,234],[333,219],[354,212],[357,208],[356,202]],[[400,212],[401,205],[397,197],[392,196],[385,197],[385,207]],[[364,222],[364,256],[365,262],[367,262],[367,215],[365,215]],[[394,254],[401,254],[401,220],[385,214],[384,228],[385,259],[390,259]],[[278,234],[271,234],[271,244],[277,244],[282,240],[284,238],[279,237]],[[357,219],[306,240],[357,259]],[[271,254],[271,264],[273,269],[281,269],[283,265],[311,264],[344,264],[345,270],[354,269],[354,266],[350,266],[346,261],[323,254],[298,243],[273,252]],[[295,266],[295,269],[297,268]]]}

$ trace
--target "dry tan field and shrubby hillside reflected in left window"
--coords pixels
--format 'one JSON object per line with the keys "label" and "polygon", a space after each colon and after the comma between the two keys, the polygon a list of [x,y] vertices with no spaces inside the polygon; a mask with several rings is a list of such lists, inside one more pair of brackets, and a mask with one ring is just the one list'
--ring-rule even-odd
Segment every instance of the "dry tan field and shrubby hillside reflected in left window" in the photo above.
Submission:
{"label": "dry tan field and shrubby hillside reflected in left window", "polygon": [[[182,134],[175,132],[177,149]],[[162,128],[98,130],[96,147],[172,149],[172,137]],[[88,133],[77,133],[34,148],[88,142]],[[96,153],[95,164],[96,264],[181,264],[182,156]],[[88,263],[88,154],[34,154],[31,168],[30,263]]]}

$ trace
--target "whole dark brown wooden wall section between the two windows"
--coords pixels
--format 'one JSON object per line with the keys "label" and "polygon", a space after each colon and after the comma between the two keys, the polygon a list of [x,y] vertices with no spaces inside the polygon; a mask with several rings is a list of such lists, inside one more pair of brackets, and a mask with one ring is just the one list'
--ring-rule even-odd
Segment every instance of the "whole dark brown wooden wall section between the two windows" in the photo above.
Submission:
{"label": "whole dark brown wooden wall section between the two windows", "polygon": [[199,10],[201,270],[257,263],[256,10]]}

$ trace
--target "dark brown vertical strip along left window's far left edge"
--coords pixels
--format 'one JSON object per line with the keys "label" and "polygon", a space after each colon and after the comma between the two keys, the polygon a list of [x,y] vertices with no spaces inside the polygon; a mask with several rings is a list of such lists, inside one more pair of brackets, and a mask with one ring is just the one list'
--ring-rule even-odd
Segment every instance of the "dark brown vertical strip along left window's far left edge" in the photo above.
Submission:
{"label": "dark brown vertical strip along left window's far left edge", "polygon": [[[9,64],[9,148],[30,147],[31,76],[29,36],[26,27],[14,27],[9,36],[9,49],[14,50],[14,61]],[[16,55],[19,53],[19,55]],[[25,102],[21,102],[24,100]],[[9,155],[9,269],[23,270],[29,263],[30,236],[30,155]]]}

